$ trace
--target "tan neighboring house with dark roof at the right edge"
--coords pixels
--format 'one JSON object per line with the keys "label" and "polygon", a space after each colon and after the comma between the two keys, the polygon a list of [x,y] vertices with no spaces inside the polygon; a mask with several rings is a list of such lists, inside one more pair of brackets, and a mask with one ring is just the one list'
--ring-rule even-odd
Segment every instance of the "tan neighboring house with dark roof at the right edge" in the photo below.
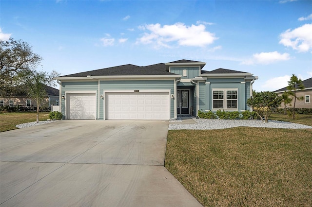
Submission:
{"label": "tan neighboring house with dark roof at the right edge", "polygon": [[[312,78],[302,81],[302,84],[305,86],[303,90],[296,90],[297,97],[303,97],[302,100],[296,100],[296,108],[312,108]],[[282,95],[287,90],[287,87],[275,90],[274,92],[278,95]],[[290,96],[291,97],[291,96]],[[291,105],[293,106],[294,100],[292,100]],[[287,104],[289,107],[290,105]]]}

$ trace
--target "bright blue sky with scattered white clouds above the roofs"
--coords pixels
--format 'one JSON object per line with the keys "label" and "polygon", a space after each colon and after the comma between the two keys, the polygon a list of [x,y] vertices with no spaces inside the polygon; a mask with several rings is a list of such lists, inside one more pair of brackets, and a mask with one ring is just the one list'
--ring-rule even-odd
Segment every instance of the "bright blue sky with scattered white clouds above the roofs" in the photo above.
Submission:
{"label": "bright blue sky with scattered white clouds above the roofs", "polygon": [[310,0],[0,0],[0,39],[61,75],[187,59],[250,72],[256,91],[312,77]]}

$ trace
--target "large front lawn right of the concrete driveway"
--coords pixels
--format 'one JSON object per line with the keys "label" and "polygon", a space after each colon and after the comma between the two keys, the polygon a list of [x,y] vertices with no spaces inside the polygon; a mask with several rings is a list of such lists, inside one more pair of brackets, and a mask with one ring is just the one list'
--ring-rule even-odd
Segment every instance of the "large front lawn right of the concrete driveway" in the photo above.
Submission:
{"label": "large front lawn right of the concrete driveway", "polygon": [[312,129],[171,130],[165,167],[204,206],[312,206]]}

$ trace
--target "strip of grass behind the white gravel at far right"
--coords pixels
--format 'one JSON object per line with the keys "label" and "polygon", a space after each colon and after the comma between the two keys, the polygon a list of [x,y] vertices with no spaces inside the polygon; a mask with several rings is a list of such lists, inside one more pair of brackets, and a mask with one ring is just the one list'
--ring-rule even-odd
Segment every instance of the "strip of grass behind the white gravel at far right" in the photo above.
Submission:
{"label": "strip of grass behind the white gravel at far right", "polygon": [[301,123],[308,126],[312,126],[312,115],[309,114],[296,114],[295,119],[293,120],[292,117],[289,115],[284,114],[271,114],[270,120],[277,120],[277,121],[289,121],[293,123]]}

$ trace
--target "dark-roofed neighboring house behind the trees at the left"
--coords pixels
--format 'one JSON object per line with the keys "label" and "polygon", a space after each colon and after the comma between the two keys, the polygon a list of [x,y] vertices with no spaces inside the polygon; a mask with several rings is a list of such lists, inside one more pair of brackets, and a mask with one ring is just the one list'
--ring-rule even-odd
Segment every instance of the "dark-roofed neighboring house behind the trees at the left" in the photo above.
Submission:
{"label": "dark-roofed neighboring house behind the trees at the left", "polygon": [[[51,105],[59,105],[59,89],[46,86],[47,95],[44,98],[44,101],[40,103],[40,106],[46,106],[48,108]],[[13,106],[24,106],[30,110],[37,108],[37,101],[31,96],[28,96],[26,92],[20,92],[17,95],[0,97],[0,106],[8,105]]]}

